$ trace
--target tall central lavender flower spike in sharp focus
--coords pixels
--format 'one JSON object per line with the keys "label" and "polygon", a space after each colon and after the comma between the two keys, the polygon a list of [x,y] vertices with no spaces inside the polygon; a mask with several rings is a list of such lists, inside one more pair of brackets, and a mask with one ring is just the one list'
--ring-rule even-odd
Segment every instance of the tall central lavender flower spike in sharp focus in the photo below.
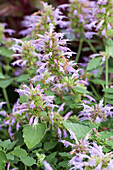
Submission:
{"label": "tall central lavender flower spike in sharp focus", "polygon": [[[39,39],[36,40],[36,45],[40,42],[42,45],[41,51],[43,51],[40,60],[37,62],[37,73],[42,74],[46,71],[51,73],[51,76],[56,76],[60,78],[66,73],[76,73],[76,70],[73,68],[76,63],[73,61],[68,62],[67,58],[70,58],[74,52],[69,48],[65,47],[66,41],[63,40],[62,33],[54,32],[53,24],[49,25],[49,32],[46,32],[45,35],[38,34]],[[54,79],[55,77],[53,77]],[[50,81],[48,79],[48,81]]]}

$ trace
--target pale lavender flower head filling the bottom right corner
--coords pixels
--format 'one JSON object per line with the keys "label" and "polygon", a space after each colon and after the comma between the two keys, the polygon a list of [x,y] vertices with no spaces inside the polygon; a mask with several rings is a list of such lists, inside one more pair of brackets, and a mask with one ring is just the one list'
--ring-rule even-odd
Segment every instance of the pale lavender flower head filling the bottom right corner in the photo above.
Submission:
{"label": "pale lavender flower head filling the bottom right corner", "polygon": [[[90,154],[90,156],[88,155]],[[78,154],[74,156],[69,165],[73,166],[71,169],[95,169],[95,170],[109,170],[113,167],[113,153],[104,154],[102,146],[98,146],[93,142],[93,146],[90,146],[87,154]],[[86,161],[87,160],[87,161]]]}

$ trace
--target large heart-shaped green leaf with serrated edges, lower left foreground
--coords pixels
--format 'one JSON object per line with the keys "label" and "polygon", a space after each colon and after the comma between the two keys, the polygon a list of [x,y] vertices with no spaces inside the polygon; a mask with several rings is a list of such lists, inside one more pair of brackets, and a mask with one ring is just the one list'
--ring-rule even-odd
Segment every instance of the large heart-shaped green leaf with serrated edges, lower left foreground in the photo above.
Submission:
{"label": "large heart-shaped green leaf with serrated edges, lower left foreground", "polygon": [[25,125],[23,129],[23,137],[27,147],[31,149],[32,147],[37,145],[44,137],[45,132],[46,125],[43,123],[38,123],[38,125],[34,127]]}

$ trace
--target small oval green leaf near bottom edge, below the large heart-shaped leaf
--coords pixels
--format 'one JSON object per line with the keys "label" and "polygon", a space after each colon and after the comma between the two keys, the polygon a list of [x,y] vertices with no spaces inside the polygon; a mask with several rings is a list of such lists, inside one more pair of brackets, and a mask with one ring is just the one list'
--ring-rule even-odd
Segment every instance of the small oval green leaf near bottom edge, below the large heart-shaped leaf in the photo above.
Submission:
{"label": "small oval green leaf near bottom edge, below the large heart-shaped leaf", "polygon": [[32,166],[36,163],[36,160],[34,158],[26,155],[22,155],[20,159],[27,166]]}

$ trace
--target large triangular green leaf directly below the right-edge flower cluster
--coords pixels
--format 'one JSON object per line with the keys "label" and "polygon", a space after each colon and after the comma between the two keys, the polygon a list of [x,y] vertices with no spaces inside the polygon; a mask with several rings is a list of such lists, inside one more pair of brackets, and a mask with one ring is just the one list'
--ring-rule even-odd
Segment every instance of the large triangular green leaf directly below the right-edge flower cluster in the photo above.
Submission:
{"label": "large triangular green leaf directly below the right-edge flower cluster", "polygon": [[78,140],[84,138],[86,134],[92,129],[90,126],[85,124],[71,121],[64,121],[63,124],[67,130],[72,130],[75,133],[75,136]]}

